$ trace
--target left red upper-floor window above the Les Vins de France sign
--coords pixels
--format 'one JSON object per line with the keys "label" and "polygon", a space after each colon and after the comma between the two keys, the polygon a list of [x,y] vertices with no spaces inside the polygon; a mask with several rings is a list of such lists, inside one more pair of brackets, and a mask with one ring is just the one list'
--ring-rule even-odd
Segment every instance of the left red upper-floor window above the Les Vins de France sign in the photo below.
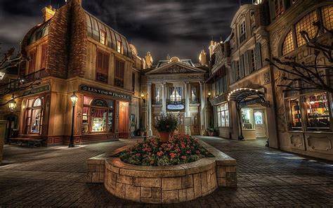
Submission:
{"label": "left red upper-floor window above the Les Vins de France sign", "polygon": [[107,73],[109,71],[109,58],[108,53],[97,51],[97,64],[96,64],[96,80],[99,82],[107,83]]}

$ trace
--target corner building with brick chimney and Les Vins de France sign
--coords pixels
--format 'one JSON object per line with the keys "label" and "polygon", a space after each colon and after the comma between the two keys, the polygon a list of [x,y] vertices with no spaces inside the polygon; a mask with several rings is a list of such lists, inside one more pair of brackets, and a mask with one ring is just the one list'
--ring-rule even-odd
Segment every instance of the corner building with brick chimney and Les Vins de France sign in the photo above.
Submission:
{"label": "corner building with brick chimney and Les Vins de France sign", "polygon": [[42,11],[44,21],[22,41],[22,53],[31,60],[22,64],[20,76],[40,78],[41,84],[22,92],[19,136],[67,143],[75,93],[76,143],[129,138],[139,122],[143,68],[135,46],[79,0]]}

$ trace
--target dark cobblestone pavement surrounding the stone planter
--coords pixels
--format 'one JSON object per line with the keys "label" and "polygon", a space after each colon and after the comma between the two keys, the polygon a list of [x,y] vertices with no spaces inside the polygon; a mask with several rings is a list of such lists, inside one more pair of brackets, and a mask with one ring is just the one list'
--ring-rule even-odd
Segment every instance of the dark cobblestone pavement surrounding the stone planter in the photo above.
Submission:
{"label": "dark cobblestone pavement surrounding the stone planter", "polygon": [[266,148],[263,140],[202,139],[237,160],[238,188],[180,204],[140,204],[85,183],[87,158],[135,141],[72,149],[6,145],[0,207],[333,207],[333,163]]}

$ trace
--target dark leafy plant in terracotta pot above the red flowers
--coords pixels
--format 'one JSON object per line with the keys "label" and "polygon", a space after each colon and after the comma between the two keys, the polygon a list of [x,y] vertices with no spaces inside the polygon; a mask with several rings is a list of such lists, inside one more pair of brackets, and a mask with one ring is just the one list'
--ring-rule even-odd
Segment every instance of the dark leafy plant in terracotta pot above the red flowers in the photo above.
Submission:
{"label": "dark leafy plant in terracotta pot above the red flowers", "polygon": [[161,142],[169,141],[170,134],[174,134],[177,129],[178,119],[174,115],[162,115],[155,123],[155,129],[158,131]]}

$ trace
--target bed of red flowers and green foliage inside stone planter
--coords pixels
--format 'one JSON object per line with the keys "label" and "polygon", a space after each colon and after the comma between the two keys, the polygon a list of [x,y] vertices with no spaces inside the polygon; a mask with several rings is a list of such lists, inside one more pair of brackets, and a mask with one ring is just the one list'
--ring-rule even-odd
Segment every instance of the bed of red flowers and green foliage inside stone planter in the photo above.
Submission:
{"label": "bed of red flowers and green foliage inside stone planter", "polygon": [[123,162],[138,165],[166,166],[213,157],[197,139],[185,135],[175,135],[167,143],[150,138],[138,142],[129,150],[119,153]]}

